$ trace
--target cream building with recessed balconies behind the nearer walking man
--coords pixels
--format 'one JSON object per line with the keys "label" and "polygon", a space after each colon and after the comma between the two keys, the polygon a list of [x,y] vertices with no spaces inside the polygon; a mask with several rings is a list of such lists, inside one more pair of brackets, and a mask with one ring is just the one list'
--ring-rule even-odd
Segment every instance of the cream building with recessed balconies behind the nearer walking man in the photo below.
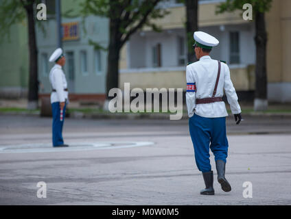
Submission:
{"label": "cream building with recessed balconies behind the nearer walking man", "polygon": [[[216,14],[221,0],[200,0],[198,26],[220,40],[211,57],[224,60],[240,99],[252,100],[255,90],[255,23],[244,21],[242,12]],[[121,53],[120,87],[185,88],[187,62],[185,6],[176,1],[165,5],[170,14],[155,21],[163,28],[156,33],[144,28],[137,32]],[[290,54],[291,1],[273,0],[266,13],[268,31],[267,75],[269,101],[291,101]],[[142,43],[141,43],[142,42]]]}

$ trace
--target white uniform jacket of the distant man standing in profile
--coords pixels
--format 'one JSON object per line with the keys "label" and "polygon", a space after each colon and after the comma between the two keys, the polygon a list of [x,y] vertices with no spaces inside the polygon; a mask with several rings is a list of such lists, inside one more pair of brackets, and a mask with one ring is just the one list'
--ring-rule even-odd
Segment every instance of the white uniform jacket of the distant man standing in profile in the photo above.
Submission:
{"label": "white uniform jacket of the distant man standing in profile", "polygon": [[65,91],[67,88],[67,80],[62,71],[62,66],[55,64],[54,67],[51,68],[49,82],[51,83],[51,88],[56,90],[56,92],[51,92],[51,103],[65,102],[65,100],[68,99],[68,92]]}

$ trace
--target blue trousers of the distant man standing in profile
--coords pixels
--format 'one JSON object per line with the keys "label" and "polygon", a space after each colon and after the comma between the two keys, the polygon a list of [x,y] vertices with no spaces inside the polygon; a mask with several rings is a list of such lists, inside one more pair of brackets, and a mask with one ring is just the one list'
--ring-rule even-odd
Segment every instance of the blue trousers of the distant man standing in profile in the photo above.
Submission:
{"label": "blue trousers of the distant man standing in profile", "polygon": [[53,145],[60,146],[64,144],[62,139],[62,126],[65,121],[66,104],[62,111],[62,121],[60,121],[60,102],[51,103],[51,110],[53,113]]}

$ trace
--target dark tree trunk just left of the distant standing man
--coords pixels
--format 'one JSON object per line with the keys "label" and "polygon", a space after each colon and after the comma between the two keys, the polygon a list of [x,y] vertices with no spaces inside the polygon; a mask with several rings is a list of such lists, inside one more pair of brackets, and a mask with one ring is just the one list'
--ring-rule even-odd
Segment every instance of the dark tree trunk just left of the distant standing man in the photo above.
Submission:
{"label": "dark tree trunk just left of the distant standing man", "polygon": [[30,51],[30,76],[28,83],[28,106],[30,110],[38,107],[38,57],[36,47],[36,32],[34,29],[34,3],[25,5],[28,21],[28,44]]}

